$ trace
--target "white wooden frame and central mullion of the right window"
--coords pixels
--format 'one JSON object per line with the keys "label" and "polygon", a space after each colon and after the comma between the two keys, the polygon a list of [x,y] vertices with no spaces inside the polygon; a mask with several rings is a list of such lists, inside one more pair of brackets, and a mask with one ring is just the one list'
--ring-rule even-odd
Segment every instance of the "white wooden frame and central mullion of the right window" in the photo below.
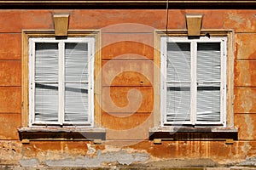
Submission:
{"label": "white wooden frame and central mullion of the right window", "polygon": [[[167,122],[166,121],[166,59],[167,59],[167,42],[189,42],[190,45],[190,121]],[[196,122],[196,55],[197,42],[220,42],[221,48],[221,80],[220,80],[220,122]],[[199,39],[189,39],[188,37],[160,37],[160,126],[195,126],[195,127],[226,127],[227,119],[227,37],[200,37]]]}

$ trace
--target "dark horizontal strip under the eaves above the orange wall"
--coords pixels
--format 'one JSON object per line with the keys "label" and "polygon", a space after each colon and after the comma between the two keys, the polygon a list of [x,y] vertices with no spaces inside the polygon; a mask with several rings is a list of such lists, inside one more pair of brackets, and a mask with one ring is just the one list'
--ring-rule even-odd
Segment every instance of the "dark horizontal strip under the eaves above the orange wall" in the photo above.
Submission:
{"label": "dark horizontal strip under the eaves above the orange wall", "polygon": [[[169,9],[255,9],[255,3],[172,3]],[[1,9],[166,9],[166,3],[0,3]]]}

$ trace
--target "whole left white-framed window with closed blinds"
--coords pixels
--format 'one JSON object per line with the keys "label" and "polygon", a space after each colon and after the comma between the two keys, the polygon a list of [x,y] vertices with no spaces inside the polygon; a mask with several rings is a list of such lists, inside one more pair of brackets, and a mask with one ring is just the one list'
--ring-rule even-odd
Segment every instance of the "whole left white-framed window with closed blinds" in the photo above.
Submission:
{"label": "whole left white-framed window with closed blinds", "polygon": [[30,126],[93,126],[94,37],[29,39]]}

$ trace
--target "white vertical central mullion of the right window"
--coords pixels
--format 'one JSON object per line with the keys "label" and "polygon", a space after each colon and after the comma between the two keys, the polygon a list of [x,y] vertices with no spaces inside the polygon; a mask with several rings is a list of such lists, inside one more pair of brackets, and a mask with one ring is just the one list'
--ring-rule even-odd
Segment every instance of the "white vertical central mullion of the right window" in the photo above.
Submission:
{"label": "white vertical central mullion of the right window", "polygon": [[195,41],[191,42],[191,111],[190,111],[190,120],[193,125],[196,122],[196,93],[197,93],[197,84],[196,84],[196,55],[197,55],[197,43]]}

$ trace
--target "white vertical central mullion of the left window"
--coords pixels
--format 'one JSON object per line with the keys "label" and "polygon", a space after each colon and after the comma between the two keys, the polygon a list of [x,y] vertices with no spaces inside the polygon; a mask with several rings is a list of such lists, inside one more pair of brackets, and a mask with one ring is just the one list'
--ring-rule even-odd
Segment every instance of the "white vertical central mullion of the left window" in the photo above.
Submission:
{"label": "white vertical central mullion of the left window", "polygon": [[65,80],[64,80],[64,42],[59,42],[59,123],[64,122],[64,96],[65,96]]}

